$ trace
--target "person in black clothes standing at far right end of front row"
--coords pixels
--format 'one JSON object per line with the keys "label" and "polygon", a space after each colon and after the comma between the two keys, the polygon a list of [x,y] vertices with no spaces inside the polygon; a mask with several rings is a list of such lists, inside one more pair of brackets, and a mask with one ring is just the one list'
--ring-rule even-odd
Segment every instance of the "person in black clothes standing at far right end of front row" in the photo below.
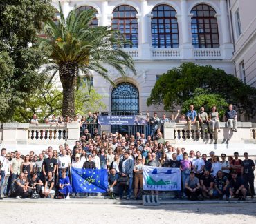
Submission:
{"label": "person in black clothes standing at far right end of front row", "polygon": [[244,179],[244,184],[247,190],[249,190],[250,185],[250,198],[254,198],[255,188],[254,188],[254,170],[255,164],[252,159],[248,159],[248,152],[244,152],[244,160],[241,162],[241,175]]}

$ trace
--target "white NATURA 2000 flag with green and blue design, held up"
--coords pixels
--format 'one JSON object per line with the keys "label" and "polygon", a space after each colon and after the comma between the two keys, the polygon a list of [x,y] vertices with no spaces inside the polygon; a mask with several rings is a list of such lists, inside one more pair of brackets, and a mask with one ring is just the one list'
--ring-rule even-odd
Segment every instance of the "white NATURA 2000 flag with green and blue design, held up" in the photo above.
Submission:
{"label": "white NATURA 2000 flag with green and blue design, held up", "polygon": [[181,190],[181,170],[179,168],[143,166],[143,190]]}

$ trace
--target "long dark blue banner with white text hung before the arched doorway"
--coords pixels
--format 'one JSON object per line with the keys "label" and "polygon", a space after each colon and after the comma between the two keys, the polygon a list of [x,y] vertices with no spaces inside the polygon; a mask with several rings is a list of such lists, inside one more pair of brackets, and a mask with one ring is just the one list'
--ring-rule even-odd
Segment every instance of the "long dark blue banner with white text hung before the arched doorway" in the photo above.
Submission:
{"label": "long dark blue banner with white text hung before the arched doorway", "polygon": [[145,115],[98,116],[99,125],[146,125]]}

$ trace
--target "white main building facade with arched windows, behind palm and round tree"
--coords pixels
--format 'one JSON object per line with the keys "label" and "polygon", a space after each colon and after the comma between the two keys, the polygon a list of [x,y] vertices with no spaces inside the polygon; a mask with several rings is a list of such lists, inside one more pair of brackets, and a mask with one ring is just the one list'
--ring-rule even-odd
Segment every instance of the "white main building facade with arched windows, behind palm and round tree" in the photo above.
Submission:
{"label": "white main building facade with arched windows, behind palm and round tree", "polygon": [[[60,1],[60,0],[59,0]],[[253,0],[252,0],[253,1]],[[119,29],[133,45],[124,50],[135,60],[138,75],[127,70],[126,79],[109,68],[116,88],[95,74],[93,86],[104,96],[104,112],[159,112],[147,107],[156,80],[161,74],[183,62],[212,65],[235,74],[232,62],[234,45],[226,0],[91,0],[60,1],[64,15],[94,8],[92,26]],[[58,1],[53,1],[58,8]]]}

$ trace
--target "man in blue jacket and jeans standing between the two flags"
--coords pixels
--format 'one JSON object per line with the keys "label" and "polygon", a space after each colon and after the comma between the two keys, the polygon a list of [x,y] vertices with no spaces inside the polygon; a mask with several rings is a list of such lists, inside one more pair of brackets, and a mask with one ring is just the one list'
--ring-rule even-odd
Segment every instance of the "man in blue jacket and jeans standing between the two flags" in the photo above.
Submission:
{"label": "man in blue jacket and jeans standing between the two flags", "polygon": [[[128,177],[129,178],[129,186],[127,189],[127,200],[131,198],[131,187],[132,187],[132,181],[134,179],[134,161],[132,159],[129,159],[129,153],[125,152],[124,159],[119,163],[119,173],[120,177]],[[122,199],[124,191],[124,186],[120,185],[120,199]]]}

